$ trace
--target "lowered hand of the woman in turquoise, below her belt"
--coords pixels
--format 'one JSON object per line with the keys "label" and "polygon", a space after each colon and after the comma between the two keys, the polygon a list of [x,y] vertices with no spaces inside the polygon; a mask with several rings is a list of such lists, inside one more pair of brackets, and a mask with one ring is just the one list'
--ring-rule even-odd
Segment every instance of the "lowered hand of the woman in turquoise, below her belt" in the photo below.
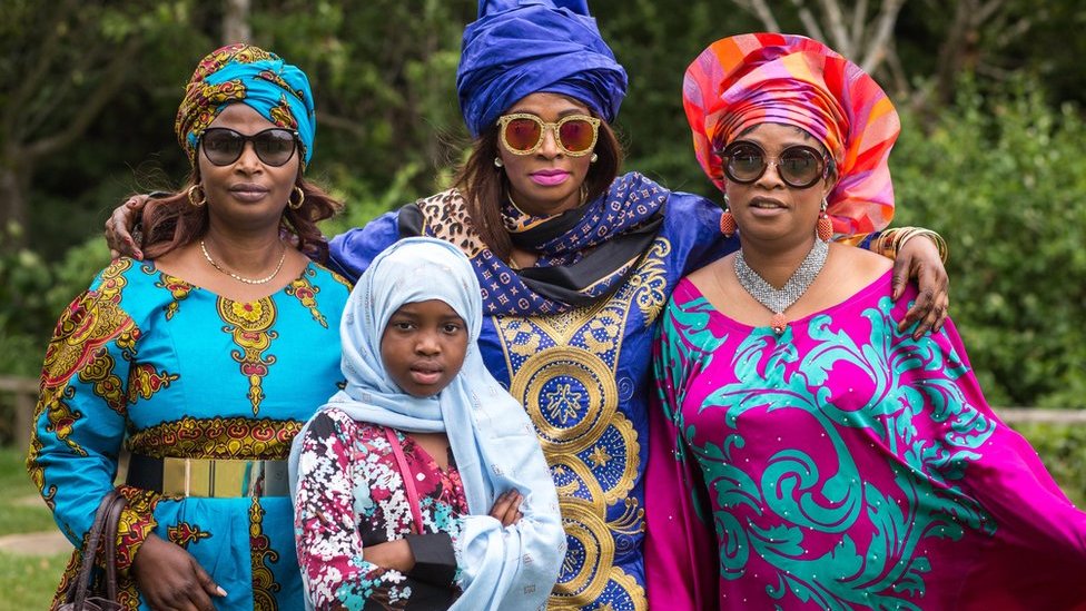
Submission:
{"label": "lowered hand of the woman in turquoise, below her belt", "polygon": [[136,552],[132,573],[151,609],[214,611],[211,597],[226,595],[191,554],[155,534]]}

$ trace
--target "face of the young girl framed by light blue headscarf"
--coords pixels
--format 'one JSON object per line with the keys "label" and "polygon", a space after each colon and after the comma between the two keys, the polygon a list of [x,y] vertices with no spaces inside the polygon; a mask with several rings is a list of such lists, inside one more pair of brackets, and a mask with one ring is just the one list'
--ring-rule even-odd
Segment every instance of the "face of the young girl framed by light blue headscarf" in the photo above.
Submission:
{"label": "face of the young girl framed by light blue headscarf", "polygon": [[467,325],[441,299],[399,306],[381,337],[381,359],[388,376],[419,398],[448,386],[466,354]]}

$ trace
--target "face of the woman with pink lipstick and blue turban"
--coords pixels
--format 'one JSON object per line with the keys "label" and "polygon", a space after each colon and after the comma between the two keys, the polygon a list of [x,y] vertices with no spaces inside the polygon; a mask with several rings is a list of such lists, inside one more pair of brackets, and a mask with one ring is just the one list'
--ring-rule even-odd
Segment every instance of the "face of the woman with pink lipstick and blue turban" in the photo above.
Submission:
{"label": "face of the woman with pink lipstick and blue turban", "polygon": [[[524,114],[544,122],[556,122],[569,116],[591,116],[589,107],[559,93],[532,93],[514,104],[505,115]],[[571,157],[554,141],[554,130],[545,129],[539,149],[529,155],[510,151],[498,135],[498,154],[510,195],[516,206],[533,216],[550,216],[576,208],[581,204],[581,185],[592,166],[592,150]]]}

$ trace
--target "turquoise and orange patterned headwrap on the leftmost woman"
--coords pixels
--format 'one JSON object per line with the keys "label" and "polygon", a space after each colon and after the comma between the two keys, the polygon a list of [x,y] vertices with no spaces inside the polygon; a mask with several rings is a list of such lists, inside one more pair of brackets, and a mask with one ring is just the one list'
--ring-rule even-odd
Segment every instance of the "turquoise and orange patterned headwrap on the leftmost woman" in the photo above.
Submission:
{"label": "turquoise and orange patterned headwrap on the leftmost woman", "polygon": [[227,105],[241,102],[273,124],[298,132],[303,168],[317,132],[313,91],[305,72],[251,45],[229,45],[200,60],[177,109],[177,141],[196,165],[200,136]]}

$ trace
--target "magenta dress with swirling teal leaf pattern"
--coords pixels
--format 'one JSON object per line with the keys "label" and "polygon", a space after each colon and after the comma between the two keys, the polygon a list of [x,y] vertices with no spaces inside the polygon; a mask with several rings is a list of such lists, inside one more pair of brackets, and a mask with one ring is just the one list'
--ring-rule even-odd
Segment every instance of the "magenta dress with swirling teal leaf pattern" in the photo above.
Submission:
{"label": "magenta dress with swirling teal leaf pattern", "polygon": [[655,609],[1073,609],[1086,513],[988,407],[951,323],[890,274],[777,336],[689,280],[654,351]]}

